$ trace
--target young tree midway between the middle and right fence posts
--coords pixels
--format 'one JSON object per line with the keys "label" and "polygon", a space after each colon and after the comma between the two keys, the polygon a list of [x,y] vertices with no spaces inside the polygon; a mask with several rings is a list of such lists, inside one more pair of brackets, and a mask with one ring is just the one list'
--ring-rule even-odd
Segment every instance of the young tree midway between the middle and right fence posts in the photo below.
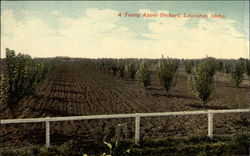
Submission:
{"label": "young tree midway between the middle and right fence posts", "polygon": [[168,91],[175,80],[176,64],[171,60],[161,60],[156,70],[161,86]]}

